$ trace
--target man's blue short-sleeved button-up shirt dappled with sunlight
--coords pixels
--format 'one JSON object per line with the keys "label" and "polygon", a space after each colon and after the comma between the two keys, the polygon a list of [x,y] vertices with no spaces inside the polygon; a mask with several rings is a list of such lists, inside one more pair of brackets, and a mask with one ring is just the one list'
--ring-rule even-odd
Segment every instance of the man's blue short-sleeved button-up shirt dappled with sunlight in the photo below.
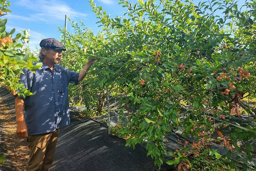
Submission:
{"label": "man's blue short-sleeved button-up shirt dappled with sunlight", "polygon": [[68,84],[79,84],[79,73],[56,64],[51,71],[44,63],[42,69],[35,70],[35,73],[28,69],[23,72],[19,82],[34,93],[21,97],[25,101],[24,116],[28,135],[53,132],[68,125]]}

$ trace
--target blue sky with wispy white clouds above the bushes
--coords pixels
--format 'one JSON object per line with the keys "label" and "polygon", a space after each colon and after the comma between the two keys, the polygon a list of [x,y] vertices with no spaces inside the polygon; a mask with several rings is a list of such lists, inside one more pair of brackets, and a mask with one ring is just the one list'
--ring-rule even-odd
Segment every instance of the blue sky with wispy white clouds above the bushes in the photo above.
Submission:
{"label": "blue sky with wispy white clouds above the bushes", "polygon": [[[129,0],[137,2],[137,0]],[[145,0],[144,0],[145,1]],[[238,0],[239,3],[244,0]],[[118,4],[119,0],[95,0],[97,6],[102,6],[110,17],[116,15],[122,16],[127,10]],[[196,4],[200,0],[193,0]],[[83,21],[93,32],[99,30],[96,22],[98,19],[92,12],[89,0],[11,0],[10,10],[6,17],[8,18],[7,30],[16,28],[17,33],[21,30],[30,29],[30,43],[33,50],[35,46],[39,47],[42,38],[60,39],[58,27],[64,27],[65,14],[72,21]],[[68,30],[72,30],[68,24]]]}

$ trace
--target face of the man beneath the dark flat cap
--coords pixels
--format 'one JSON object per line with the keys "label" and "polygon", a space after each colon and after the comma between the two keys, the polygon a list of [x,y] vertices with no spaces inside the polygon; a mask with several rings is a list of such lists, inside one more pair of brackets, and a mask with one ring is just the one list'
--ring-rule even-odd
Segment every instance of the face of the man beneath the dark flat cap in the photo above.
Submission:
{"label": "face of the man beneath the dark flat cap", "polygon": [[52,48],[43,49],[42,53],[44,54],[44,60],[47,62],[55,64],[59,63],[62,58],[62,51],[61,50],[54,50]]}

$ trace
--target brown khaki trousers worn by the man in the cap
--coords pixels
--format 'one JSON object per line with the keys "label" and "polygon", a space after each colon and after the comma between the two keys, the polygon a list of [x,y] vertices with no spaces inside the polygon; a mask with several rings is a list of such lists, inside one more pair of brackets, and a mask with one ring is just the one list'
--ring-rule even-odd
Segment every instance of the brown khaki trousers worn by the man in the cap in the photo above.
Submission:
{"label": "brown khaki trousers worn by the man in the cap", "polygon": [[28,136],[29,160],[26,171],[48,171],[53,163],[60,129]]}

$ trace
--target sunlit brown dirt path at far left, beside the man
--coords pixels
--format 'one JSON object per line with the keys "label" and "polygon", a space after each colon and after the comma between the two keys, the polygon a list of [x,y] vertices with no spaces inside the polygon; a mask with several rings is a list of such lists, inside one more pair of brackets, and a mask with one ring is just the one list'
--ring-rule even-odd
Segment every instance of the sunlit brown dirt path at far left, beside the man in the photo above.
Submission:
{"label": "sunlit brown dirt path at far left, beside the man", "polygon": [[0,88],[0,153],[7,161],[0,164],[1,171],[23,171],[29,157],[27,141],[16,135],[14,97]]}

